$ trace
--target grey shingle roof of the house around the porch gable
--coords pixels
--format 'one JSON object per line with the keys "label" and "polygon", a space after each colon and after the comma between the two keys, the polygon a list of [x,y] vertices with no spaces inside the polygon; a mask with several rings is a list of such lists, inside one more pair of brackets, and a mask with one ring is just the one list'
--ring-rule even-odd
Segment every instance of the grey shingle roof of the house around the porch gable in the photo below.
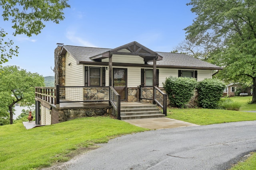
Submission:
{"label": "grey shingle roof of the house around the porch gable", "polygon": [[[127,44],[128,45],[128,44]],[[126,47],[127,48],[127,47]],[[118,51],[122,49],[118,47],[116,49],[106,49],[106,48],[96,48],[96,47],[79,47],[71,45],[63,45],[61,55],[65,55],[68,52],[77,64],[98,64],[98,65],[108,65],[106,62],[101,62],[102,58],[108,57],[106,54],[111,51]],[[138,48],[137,48],[138,50]],[[150,50],[150,49],[148,49]],[[146,52],[145,52],[146,53]],[[207,63],[200,59],[190,57],[185,54],[180,53],[166,53],[166,52],[147,52],[148,54],[154,54],[158,57],[156,66],[157,68],[183,68],[183,69],[205,69],[205,70],[221,70],[220,66]],[[105,54],[105,56],[104,56]],[[122,53],[125,54],[125,53]],[[119,63],[113,63],[113,66],[117,66]],[[140,66],[140,67],[152,67],[153,62],[150,60],[145,61],[145,64],[127,64],[127,66]],[[124,63],[122,63],[124,66]]]}

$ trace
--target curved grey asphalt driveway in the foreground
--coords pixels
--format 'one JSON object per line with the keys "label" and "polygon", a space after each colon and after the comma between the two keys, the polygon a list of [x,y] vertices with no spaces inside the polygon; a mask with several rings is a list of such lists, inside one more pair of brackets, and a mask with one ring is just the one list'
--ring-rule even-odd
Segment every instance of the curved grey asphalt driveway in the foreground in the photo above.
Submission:
{"label": "curved grey asphalt driveway in the foreground", "polygon": [[224,170],[256,150],[256,121],[124,135],[66,162],[66,170]]}

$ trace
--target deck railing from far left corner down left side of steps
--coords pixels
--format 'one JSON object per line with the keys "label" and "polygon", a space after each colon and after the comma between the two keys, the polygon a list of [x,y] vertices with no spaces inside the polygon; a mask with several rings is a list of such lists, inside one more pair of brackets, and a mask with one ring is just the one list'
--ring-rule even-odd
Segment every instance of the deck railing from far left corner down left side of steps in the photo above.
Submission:
{"label": "deck railing from far left corner down left side of steps", "polygon": [[59,105],[63,102],[104,102],[109,101],[120,119],[120,94],[110,86],[60,86],[35,87],[36,98],[50,104]]}

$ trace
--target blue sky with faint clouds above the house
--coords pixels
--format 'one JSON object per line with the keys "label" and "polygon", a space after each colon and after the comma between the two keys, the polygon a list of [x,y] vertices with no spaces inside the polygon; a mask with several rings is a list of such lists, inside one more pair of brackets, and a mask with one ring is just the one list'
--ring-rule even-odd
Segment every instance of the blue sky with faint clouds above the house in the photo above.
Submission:
{"label": "blue sky with faint clouds above the house", "polygon": [[[20,47],[18,57],[6,65],[17,65],[42,76],[54,76],[56,43],[84,47],[116,48],[137,41],[153,51],[170,52],[185,39],[185,27],[196,17],[186,6],[190,0],[70,0],[59,24],[46,22],[39,35],[12,36],[10,22],[2,21]],[[2,13],[2,11],[0,10]],[[1,24],[1,25],[2,25]]]}

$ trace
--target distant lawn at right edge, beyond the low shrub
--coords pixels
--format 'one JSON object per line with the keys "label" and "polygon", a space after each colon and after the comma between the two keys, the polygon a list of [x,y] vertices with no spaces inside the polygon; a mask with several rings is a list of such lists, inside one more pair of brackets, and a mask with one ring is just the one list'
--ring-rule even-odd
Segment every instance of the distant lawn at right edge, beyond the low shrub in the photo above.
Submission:
{"label": "distant lawn at right edge, beyond the low shrub", "polygon": [[242,104],[240,111],[256,110],[256,104],[248,104],[248,101],[252,101],[252,96],[235,96],[230,99]]}

